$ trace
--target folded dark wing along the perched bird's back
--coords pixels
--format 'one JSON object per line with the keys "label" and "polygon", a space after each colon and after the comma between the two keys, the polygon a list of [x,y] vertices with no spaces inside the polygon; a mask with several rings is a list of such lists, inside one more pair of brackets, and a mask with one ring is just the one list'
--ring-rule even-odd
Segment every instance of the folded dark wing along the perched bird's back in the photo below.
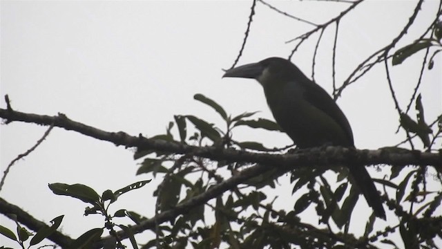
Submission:
{"label": "folded dark wing along the perched bird's back", "polygon": [[305,87],[305,99],[312,104],[314,107],[320,109],[324,113],[327,113],[330,118],[332,118],[336,123],[339,124],[347,134],[347,138],[350,145],[343,146],[354,146],[352,127],[345,117],[343,111],[340,110],[336,102],[330,97],[330,95],[318,84],[314,82],[306,82]]}

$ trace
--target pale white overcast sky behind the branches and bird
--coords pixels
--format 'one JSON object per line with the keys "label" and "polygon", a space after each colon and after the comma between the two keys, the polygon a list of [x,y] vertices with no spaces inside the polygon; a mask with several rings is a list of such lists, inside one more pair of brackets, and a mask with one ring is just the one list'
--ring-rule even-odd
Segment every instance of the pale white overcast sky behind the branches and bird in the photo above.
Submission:
{"label": "pale white overcast sky behind the branches and bird", "polygon": [[[318,24],[348,6],[324,1],[271,3]],[[341,21],[338,84],[365,57],[398,34],[415,4],[367,1]],[[398,47],[421,35],[438,4],[424,2],[416,26]],[[259,84],[221,79],[222,68],[229,68],[238,54],[250,6],[250,1],[1,1],[1,108],[6,107],[3,95],[8,94],[12,108],[18,111],[50,116],[61,112],[106,131],[153,136],[164,133],[174,114],[193,114],[221,125],[217,114],[193,100],[195,93],[202,93],[233,115],[261,111],[257,118],[273,119]],[[287,57],[294,44],[285,42],[311,28],[258,3],[240,64],[270,56]],[[320,44],[316,67],[318,84],[329,92],[333,36],[330,27]],[[317,37],[300,46],[293,59],[309,77]],[[416,65],[421,64],[422,55],[410,57],[392,70],[403,109],[419,77]],[[439,56],[434,69],[423,77],[420,92],[428,122],[442,112],[441,71]],[[402,132],[394,133],[398,117],[383,66],[350,86],[338,104],[352,124],[356,147],[376,149],[403,140]],[[46,127],[35,124],[1,125],[1,174],[44,131]],[[290,143],[284,134],[238,131],[234,133],[236,140],[258,140],[267,147]],[[48,183],[83,183],[100,193],[150,178],[135,176],[138,166],[132,156],[132,151],[123,147],[55,128],[36,151],[12,167],[0,194],[46,222],[66,214],[62,230],[77,237],[94,225],[101,226],[101,217],[82,216],[83,203],[55,196]],[[372,171],[372,176],[381,178],[388,173]],[[154,202],[148,197],[156,183],[122,196],[122,205],[115,210],[124,207],[152,216]],[[291,187],[287,192],[291,193]],[[140,196],[146,196],[146,201],[140,202]],[[0,221],[14,228],[4,216]]]}

